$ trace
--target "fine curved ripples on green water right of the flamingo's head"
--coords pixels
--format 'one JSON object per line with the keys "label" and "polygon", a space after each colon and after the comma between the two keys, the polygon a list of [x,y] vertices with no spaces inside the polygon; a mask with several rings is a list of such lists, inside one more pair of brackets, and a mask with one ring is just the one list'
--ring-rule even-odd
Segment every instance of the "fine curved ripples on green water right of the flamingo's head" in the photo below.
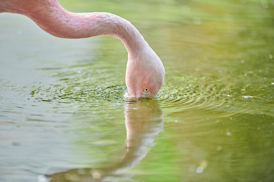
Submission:
{"label": "fine curved ripples on green water right of the flamingo's head", "polygon": [[[165,82],[157,99],[161,107],[168,112],[179,112],[182,110],[199,111],[200,109],[222,111],[227,113],[249,113],[274,116],[273,92],[264,90],[264,95],[256,92],[260,96],[252,96],[249,99],[243,98],[242,91],[235,89],[231,84],[218,83],[207,78],[193,78],[183,76],[173,76],[173,80]],[[178,80],[183,80],[184,85],[178,86]],[[176,85],[176,87],[174,87]],[[266,92],[267,91],[267,92]],[[272,97],[271,97],[272,96]]]}

